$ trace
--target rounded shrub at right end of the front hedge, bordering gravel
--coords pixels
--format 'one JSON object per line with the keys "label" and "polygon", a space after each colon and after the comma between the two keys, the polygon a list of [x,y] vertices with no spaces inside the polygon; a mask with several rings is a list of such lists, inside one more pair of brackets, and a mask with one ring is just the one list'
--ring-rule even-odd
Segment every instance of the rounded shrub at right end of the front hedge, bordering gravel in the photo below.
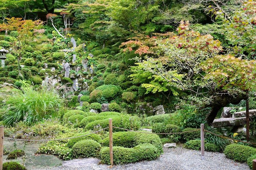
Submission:
{"label": "rounded shrub at right end of the front hedge, bordering gravel", "polygon": [[137,150],[139,160],[154,160],[160,156],[160,152],[152,144],[139,144],[133,149]]}

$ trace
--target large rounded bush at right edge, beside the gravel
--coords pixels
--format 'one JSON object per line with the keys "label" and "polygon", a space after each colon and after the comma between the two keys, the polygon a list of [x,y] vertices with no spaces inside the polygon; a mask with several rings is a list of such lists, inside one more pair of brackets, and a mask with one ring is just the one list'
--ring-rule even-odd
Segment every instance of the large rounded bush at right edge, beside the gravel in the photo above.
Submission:
{"label": "large rounded bush at right edge, beside the gravel", "polygon": [[230,144],[226,146],[224,154],[235,161],[245,162],[252,154],[256,154],[256,149],[241,144]]}

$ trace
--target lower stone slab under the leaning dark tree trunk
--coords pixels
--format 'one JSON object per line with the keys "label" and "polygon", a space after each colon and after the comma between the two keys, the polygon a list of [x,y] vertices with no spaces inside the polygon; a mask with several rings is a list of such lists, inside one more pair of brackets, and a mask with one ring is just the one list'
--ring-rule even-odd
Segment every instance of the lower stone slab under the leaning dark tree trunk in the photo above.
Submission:
{"label": "lower stone slab under the leaning dark tree trunk", "polygon": [[241,126],[246,124],[246,117],[238,118],[218,118],[212,122],[213,128],[228,127],[228,126]]}

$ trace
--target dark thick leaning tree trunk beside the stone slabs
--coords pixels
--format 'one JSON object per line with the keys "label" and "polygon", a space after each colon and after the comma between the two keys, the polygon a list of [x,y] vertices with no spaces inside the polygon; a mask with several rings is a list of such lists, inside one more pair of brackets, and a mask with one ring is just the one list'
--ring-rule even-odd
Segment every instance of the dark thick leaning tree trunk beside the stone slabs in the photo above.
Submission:
{"label": "dark thick leaning tree trunk beside the stone slabs", "polygon": [[225,107],[229,103],[236,105],[243,99],[248,99],[248,95],[243,93],[233,96],[223,92],[219,96],[213,97],[213,102],[210,105],[206,106],[211,107],[209,113],[206,115],[206,121],[209,125],[211,125],[221,107]]}

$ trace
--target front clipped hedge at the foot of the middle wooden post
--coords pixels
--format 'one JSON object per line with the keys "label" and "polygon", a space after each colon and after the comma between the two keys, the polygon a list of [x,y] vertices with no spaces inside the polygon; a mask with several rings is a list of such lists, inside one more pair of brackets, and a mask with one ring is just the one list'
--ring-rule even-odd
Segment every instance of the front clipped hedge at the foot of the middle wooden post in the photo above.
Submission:
{"label": "front clipped hedge at the foot of the middle wooden post", "polygon": [[[102,163],[110,165],[109,147],[100,150],[100,159]],[[124,148],[121,146],[113,146],[113,163],[126,164],[139,160],[137,150],[133,148]]]}

